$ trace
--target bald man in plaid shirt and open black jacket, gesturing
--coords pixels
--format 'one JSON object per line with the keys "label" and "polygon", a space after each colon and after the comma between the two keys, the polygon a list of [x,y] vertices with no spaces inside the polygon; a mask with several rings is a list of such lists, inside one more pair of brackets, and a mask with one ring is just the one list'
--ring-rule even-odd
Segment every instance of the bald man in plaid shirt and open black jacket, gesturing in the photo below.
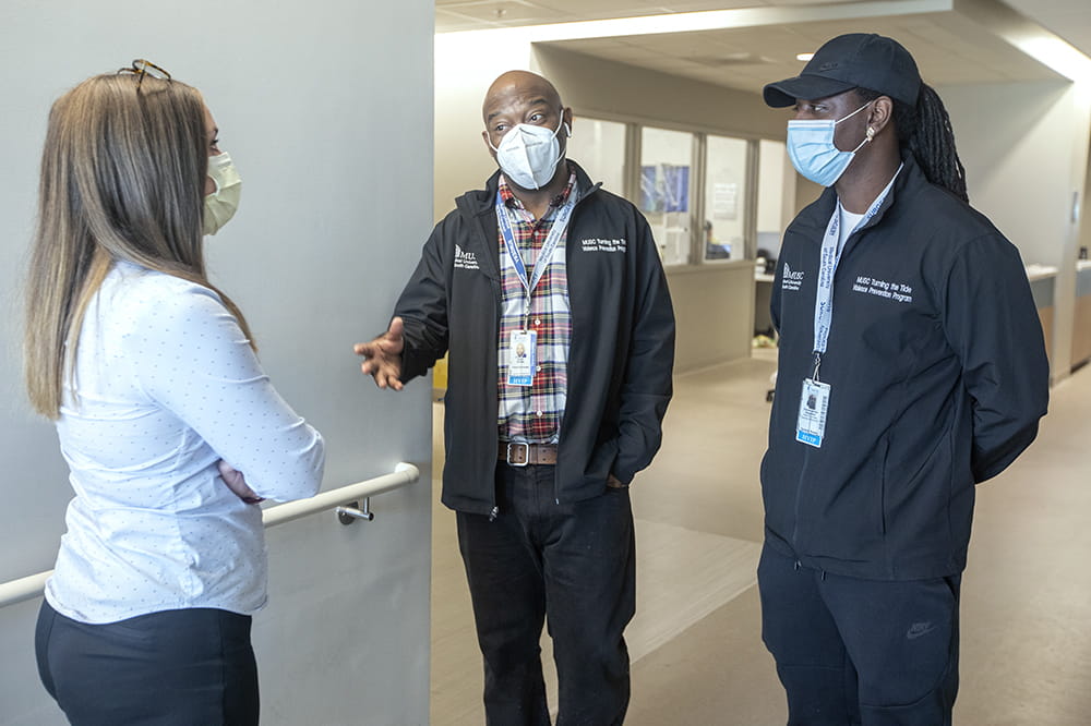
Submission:
{"label": "bald man in plaid shirt and open black jacket, gesturing", "polygon": [[500,171],[436,226],[389,330],[356,352],[395,389],[449,353],[442,498],[457,512],[488,722],[549,724],[548,617],[558,724],[620,724],[627,487],[659,449],[674,314],[647,221],[565,159],[572,109],[552,84],[505,73],[483,117]]}

